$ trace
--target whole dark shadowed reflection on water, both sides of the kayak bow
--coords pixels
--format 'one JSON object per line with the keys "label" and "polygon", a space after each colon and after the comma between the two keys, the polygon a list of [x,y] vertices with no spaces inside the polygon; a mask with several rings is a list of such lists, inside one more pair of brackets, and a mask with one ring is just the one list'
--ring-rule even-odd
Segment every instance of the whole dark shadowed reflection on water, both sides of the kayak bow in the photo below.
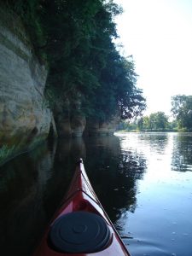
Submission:
{"label": "whole dark shadowed reflection on water, both sides of the kayak bow", "polygon": [[3,256],[31,255],[59,206],[82,157],[98,198],[115,223],[137,205],[137,179],[146,161],[121,152],[118,137],[46,142],[0,169],[0,246]]}

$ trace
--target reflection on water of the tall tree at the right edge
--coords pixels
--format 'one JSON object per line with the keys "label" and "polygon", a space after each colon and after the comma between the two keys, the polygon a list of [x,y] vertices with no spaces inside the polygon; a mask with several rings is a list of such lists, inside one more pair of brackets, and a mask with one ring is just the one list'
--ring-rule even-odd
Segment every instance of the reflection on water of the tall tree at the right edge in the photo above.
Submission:
{"label": "reflection on water of the tall tree at the right edge", "polygon": [[173,137],[172,170],[192,171],[192,136],[180,134]]}

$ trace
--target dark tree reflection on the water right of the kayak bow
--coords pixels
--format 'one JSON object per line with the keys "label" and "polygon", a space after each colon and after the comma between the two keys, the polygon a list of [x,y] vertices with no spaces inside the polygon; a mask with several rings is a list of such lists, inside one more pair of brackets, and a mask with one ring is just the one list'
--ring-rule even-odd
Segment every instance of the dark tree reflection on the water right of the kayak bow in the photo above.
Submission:
{"label": "dark tree reflection on the water right of the kayak bow", "polygon": [[91,138],[86,144],[85,168],[96,195],[114,222],[136,207],[136,180],[143,177],[145,160],[122,153],[118,137]]}

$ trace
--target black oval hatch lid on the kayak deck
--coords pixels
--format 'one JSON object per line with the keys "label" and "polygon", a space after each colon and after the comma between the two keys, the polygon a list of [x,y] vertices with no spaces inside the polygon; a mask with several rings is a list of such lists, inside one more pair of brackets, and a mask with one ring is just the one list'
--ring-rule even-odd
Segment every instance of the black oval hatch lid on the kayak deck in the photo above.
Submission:
{"label": "black oval hatch lid on the kayak deck", "polygon": [[110,239],[105,220],[90,212],[71,212],[56,219],[49,231],[50,245],[61,253],[96,253]]}

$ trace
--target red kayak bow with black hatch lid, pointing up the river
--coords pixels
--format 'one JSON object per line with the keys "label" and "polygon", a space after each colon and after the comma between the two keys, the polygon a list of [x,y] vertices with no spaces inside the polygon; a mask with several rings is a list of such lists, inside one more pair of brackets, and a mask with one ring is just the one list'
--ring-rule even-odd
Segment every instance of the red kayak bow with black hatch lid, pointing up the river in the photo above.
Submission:
{"label": "red kayak bow with black hatch lid, pointing up the river", "polygon": [[61,208],[34,256],[131,256],[79,160]]}

